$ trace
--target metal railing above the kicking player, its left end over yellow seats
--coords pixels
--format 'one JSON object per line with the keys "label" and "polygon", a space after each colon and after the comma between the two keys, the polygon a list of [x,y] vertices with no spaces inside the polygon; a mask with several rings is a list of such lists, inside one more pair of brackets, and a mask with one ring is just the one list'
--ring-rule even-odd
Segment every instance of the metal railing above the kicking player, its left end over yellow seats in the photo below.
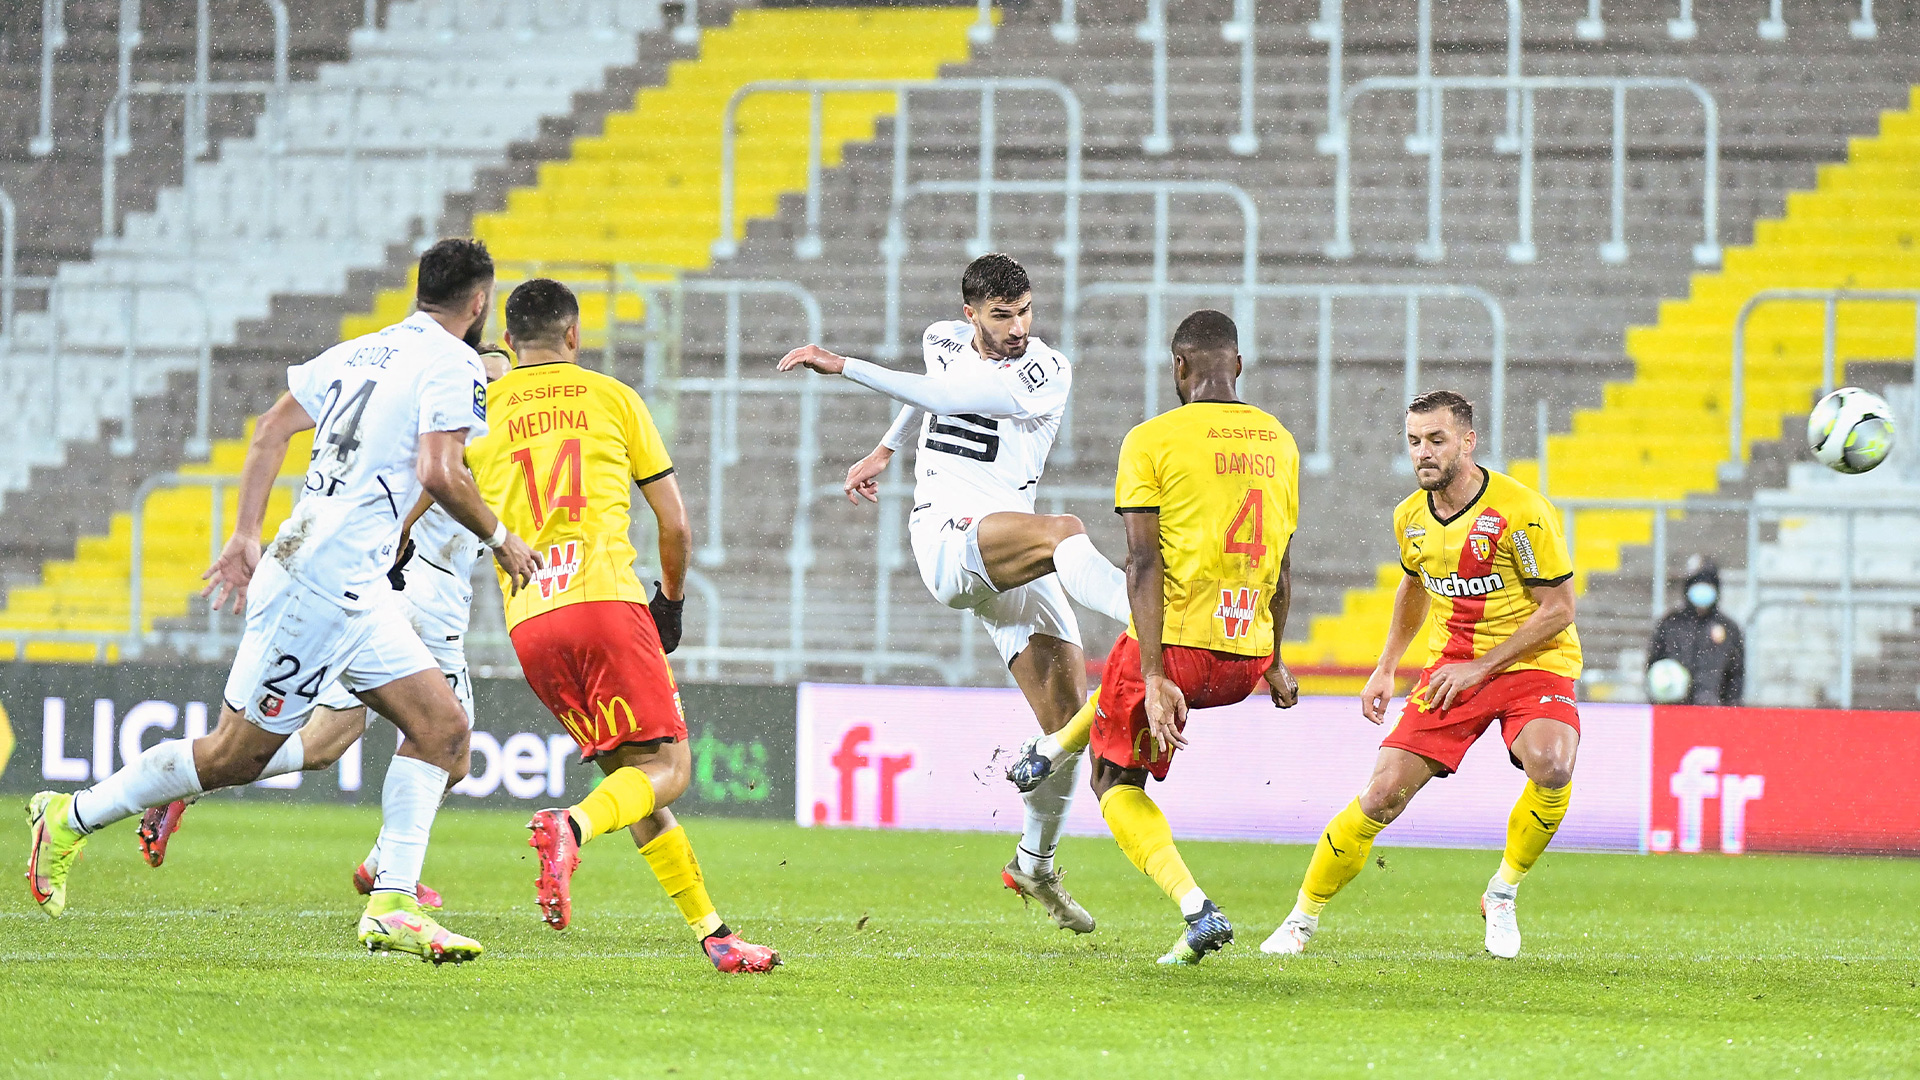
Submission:
{"label": "metal railing above the kicking player, its left end over yellow seats", "polygon": [[[1060,100],[1064,111],[1066,175],[1077,181],[1081,175],[1081,104],[1079,96],[1056,79],[774,79],[747,83],[728,98],[720,119],[720,238],[714,240],[716,259],[732,259],[739,254],[737,234],[741,231],[735,208],[737,186],[737,113],[741,102],[755,94],[806,94],[808,135],[806,135],[806,231],[793,242],[793,254],[801,259],[820,258],[820,173],[824,154],[822,111],[826,94],[849,92],[889,92],[895,94],[893,113],[893,206],[899,208],[910,184],[912,119],[908,96],[912,92],[977,92],[979,94],[979,179],[991,183],[996,171],[998,119],[996,98],[1002,92],[1039,92]],[[983,188],[977,198],[981,234],[993,227],[991,196]]]}

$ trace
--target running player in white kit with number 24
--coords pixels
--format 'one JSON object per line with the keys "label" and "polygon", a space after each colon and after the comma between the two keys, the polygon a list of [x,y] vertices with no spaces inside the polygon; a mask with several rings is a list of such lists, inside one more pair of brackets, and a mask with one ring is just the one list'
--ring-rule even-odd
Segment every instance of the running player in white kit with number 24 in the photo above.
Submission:
{"label": "running player in white kit with number 24", "polygon": [[[403,323],[290,367],[288,394],[267,409],[240,467],[240,513],[207,594],[246,605],[246,632],[215,730],[169,740],[106,780],[27,807],[27,884],[48,915],[65,909],[65,878],[86,836],[148,807],[259,778],[338,678],[405,736],[382,788],[382,867],[359,922],[369,949],[465,961],[480,944],[420,911],[415,888],[449,778],[467,773],[467,717],[426,646],[384,603],[386,573],[420,492],[488,536],[518,584],[534,550],[488,509],[463,461],[486,432],[486,375],[472,346],[493,294],[493,261],[474,240],[420,256],[415,311]],[[261,557],[267,496],[290,438],[313,430],[303,494]]]}

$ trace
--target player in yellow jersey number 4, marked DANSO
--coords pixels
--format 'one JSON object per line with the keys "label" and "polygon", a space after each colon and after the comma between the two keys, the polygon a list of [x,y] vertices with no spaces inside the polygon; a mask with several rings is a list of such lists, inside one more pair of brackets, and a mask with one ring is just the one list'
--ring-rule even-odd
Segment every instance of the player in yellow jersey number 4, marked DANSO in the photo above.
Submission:
{"label": "player in yellow jersey number 4, marked DANSO", "polygon": [[1181,407],[1127,432],[1114,482],[1133,625],[1092,698],[1092,790],[1114,840],[1187,920],[1160,963],[1200,963],[1233,926],[1173,847],[1146,776],[1167,778],[1188,709],[1236,705],[1261,680],[1283,709],[1298,698],[1279,638],[1300,450],[1281,421],[1240,402],[1238,377],[1233,319],[1188,315],[1173,334]]}

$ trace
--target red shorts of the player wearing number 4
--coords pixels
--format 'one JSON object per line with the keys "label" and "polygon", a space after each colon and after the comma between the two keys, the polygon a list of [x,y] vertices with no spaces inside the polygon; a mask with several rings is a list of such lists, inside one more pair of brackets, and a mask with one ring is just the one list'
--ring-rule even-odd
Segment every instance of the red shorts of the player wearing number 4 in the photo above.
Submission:
{"label": "red shorts of the player wearing number 4", "polygon": [[[1233,655],[1188,646],[1162,646],[1167,678],[1187,696],[1188,709],[1238,705],[1273,667],[1271,655]],[[1181,723],[1181,730],[1187,724]],[[1146,676],[1140,675],[1140,642],[1121,634],[1106,653],[1100,703],[1092,715],[1092,753],[1121,769],[1146,769],[1167,778],[1173,748],[1160,749],[1146,726]]]}

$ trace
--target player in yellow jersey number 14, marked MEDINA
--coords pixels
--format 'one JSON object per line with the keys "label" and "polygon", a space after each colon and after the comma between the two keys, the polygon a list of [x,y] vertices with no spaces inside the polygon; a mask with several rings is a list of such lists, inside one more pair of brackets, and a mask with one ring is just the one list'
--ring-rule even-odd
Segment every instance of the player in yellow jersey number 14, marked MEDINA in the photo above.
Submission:
{"label": "player in yellow jersey number 14, marked MEDINA", "polygon": [[[488,388],[493,425],[467,454],[480,490],[547,553],[532,586],[507,594],[507,632],[534,694],[607,774],[580,803],[543,809],[528,824],[541,915],[564,928],[580,846],[630,828],[712,965],[768,970],[780,953],[720,920],[687,834],[666,809],[693,771],[666,665],[680,646],[693,532],[666,444],[639,394],[576,363],[580,302],[564,284],[534,279],[513,290],[507,346],[518,365]],[[634,484],[660,523],[666,582],[651,605],[628,540]]]}

